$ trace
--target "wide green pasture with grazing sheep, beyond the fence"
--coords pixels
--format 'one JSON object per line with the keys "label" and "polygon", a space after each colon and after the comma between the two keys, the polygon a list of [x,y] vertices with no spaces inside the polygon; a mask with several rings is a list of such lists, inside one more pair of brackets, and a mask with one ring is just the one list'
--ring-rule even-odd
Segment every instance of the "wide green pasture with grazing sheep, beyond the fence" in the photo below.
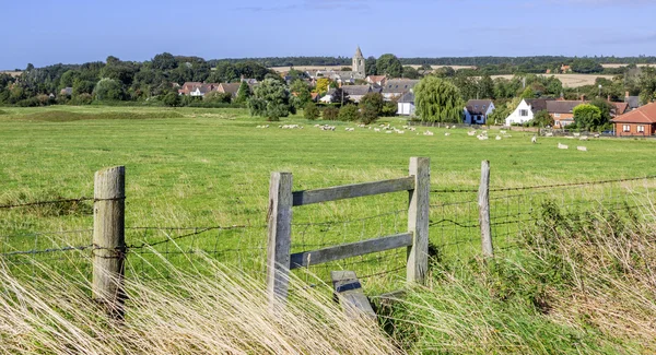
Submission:
{"label": "wide green pasture with grazing sheep, beyond the fence", "polygon": [[[0,116],[0,204],[90,197],[94,171],[125,165],[129,242],[191,235],[178,240],[177,247],[209,250],[231,261],[238,260],[244,269],[260,271],[271,171],[293,173],[295,190],[402,177],[408,174],[410,156],[430,157],[432,189],[447,190],[476,189],[482,159],[491,161],[492,188],[656,174],[651,164],[656,142],[644,140],[597,139],[578,143],[564,138],[540,138],[531,144],[530,132],[509,131],[511,137],[495,140],[497,131],[491,130],[490,140],[479,141],[465,129],[417,127],[417,131],[406,129],[403,134],[384,133],[354,123],[306,121],[300,116],[266,122],[249,117],[244,109],[4,110],[7,115]],[[400,117],[380,122],[399,129],[407,123]],[[286,123],[304,128],[278,128]],[[337,129],[323,131],[314,127],[319,123]],[[263,125],[269,128],[257,128]],[[424,135],[425,130],[434,135]],[[449,135],[445,135],[447,132]],[[559,150],[559,143],[571,147]],[[585,145],[587,152],[577,151],[577,144]],[[436,193],[431,199],[431,204],[440,205],[465,197]],[[295,209],[293,249],[303,251],[313,246],[399,233],[406,224],[405,209],[403,193]],[[440,221],[445,214],[464,215],[462,209],[432,210],[431,220]],[[476,204],[466,209],[468,223],[476,221]],[[92,226],[90,213],[91,204],[84,203],[0,210],[3,250],[86,245]],[[449,230],[437,226],[432,238],[447,244],[449,238],[464,237],[458,230]],[[467,230],[476,245],[476,228]],[[39,235],[42,232],[48,233]],[[155,251],[173,253],[171,248],[176,246],[165,242]],[[461,248],[453,250],[460,251]],[[177,258],[174,262],[186,262],[184,255],[172,258]],[[398,265],[402,256],[387,252],[361,262],[379,267],[382,260]],[[139,268],[148,269],[148,259],[141,260]],[[316,272],[325,274],[327,268]]]}

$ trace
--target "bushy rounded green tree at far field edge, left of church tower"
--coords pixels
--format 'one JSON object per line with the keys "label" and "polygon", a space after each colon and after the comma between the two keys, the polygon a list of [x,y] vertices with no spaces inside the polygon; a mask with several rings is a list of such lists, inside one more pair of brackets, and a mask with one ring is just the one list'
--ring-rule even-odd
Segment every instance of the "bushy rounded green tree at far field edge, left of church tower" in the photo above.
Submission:
{"label": "bushy rounded green tree at far field edge, left of church tower", "polygon": [[274,79],[265,79],[255,88],[253,97],[248,100],[248,107],[251,116],[266,117],[270,121],[288,117],[292,110],[289,92]]}

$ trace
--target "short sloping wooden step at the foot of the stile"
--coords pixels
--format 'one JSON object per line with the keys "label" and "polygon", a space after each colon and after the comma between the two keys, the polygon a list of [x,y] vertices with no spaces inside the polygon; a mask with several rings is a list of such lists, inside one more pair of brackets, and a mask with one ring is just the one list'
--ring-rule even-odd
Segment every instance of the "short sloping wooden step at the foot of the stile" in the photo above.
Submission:
{"label": "short sloping wooden step at the foot of the stile", "polygon": [[353,271],[331,271],[332,287],[342,309],[350,318],[377,320],[372,304],[362,291],[362,284]]}

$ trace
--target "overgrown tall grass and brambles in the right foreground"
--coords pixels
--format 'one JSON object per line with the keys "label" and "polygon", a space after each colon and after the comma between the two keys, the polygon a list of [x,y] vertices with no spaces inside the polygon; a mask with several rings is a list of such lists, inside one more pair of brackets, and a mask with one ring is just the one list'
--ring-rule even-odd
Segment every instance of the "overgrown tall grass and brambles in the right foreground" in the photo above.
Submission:
{"label": "overgrown tall grass and brambles in the right foreground", "polygon": [[505,259],[435,262],[388,331],[417,353],[656,352],[656,210],[541,214]]}

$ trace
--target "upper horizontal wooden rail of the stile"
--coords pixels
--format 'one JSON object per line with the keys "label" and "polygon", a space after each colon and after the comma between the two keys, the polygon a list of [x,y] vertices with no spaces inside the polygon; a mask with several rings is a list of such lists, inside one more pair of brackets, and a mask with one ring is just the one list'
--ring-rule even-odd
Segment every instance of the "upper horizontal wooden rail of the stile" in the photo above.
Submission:
{"label": "upper horizontal wooden rail of the stile", "polygon": [[293,193],[293,196],[294,205],[305,205],[326,201],[361,198],[372,194],[408,191],[412,189],[414,189],[414,177],[410,176],[391,180],[345,185],[317,190],[296,191]]}

